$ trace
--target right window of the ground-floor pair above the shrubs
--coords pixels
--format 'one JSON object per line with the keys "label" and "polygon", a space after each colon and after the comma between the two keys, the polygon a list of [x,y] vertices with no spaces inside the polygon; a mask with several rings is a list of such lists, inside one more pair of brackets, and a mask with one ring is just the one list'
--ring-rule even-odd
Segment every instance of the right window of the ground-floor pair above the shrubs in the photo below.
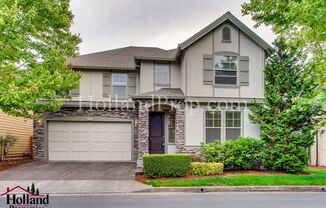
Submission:
{"label": "right window of the ground-floor pair above the shrubs", "polygon": [[241,112],[225,112],[225,138],[226,140],[235,140],[241,135]]}

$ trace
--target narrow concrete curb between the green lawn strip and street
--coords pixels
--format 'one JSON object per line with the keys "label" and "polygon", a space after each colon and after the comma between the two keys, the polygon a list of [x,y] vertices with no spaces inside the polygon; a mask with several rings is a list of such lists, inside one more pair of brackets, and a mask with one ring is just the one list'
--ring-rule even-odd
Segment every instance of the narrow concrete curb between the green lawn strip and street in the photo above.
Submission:
{"label": "narrow concrete curb between the green lawn strip and street", "polygon": [[[326,186],[206,186],[206,187],[154,187],[139,192],[326,192]],[[138,192],[138,193],[139,193]]]}

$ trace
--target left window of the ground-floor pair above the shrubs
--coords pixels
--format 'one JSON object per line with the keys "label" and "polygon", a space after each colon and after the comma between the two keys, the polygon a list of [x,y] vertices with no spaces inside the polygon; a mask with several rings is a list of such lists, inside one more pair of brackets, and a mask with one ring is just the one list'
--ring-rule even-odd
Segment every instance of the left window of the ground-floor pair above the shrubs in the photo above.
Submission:
{"label": "left window of the ground-floor pair above the shrubs", "polygon": [[221,141],[222,117],[220,111],[206,111],[206,143]]}

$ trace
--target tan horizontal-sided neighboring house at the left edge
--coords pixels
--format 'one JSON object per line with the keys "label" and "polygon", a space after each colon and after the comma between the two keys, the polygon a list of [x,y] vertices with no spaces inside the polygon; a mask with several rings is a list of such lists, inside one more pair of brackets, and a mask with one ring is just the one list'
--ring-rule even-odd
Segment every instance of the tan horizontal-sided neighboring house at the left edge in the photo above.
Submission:
{"label": "tan horizontal-sided neighboring house at the left edge", "polygon": [[0,136],[6,135],[15,136],[18,138],[14,146],[10,149],[7,158],[30,156],[32,142],[31,137],[33,136],[32,120],[8,116],[0,111]]}

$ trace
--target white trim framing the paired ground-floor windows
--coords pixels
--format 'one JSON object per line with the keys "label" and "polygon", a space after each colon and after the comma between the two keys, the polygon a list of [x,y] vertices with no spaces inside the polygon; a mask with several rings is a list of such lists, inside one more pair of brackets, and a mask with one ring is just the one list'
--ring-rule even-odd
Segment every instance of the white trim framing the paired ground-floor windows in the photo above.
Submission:
{"label": "white trim framing the paired ground-floor windows", "polygon": [[[210,111],[210,110],[208,110],[208,109],[204,109],[204,120],[203,120],[203,126],[204,126],[204,144],[207,144],[207,142],[206,142],[206,112],[207,111]],[[213,110],[211,110],[211,111],[213,111]],[[240,120],[240,136],[243,136],[243,125],[244,125],[244,123],[243,123],[243,121],[244,121],[244,118],[243,118],[243,115],[244,115],[244,113],[243,113],[243,110],[232,110],[232,109],[230,109],[230,110],[216,110],[216,112],[221,112],[221,143],[223,143],[223,142],[225,142],[225,141],[227,141],[226,140],[226,128],[228,128],[228,127],[226,127],[226,112],[227,111],[232,111],[232,112],[240,112],[240,116],[241,116],[241,120]],[[208,128],[212,128],[212,127],[208,127]],[[216,127],[216,128],[218,128],[218,127]],[[230,127],[231,128],[231,127]]]}

